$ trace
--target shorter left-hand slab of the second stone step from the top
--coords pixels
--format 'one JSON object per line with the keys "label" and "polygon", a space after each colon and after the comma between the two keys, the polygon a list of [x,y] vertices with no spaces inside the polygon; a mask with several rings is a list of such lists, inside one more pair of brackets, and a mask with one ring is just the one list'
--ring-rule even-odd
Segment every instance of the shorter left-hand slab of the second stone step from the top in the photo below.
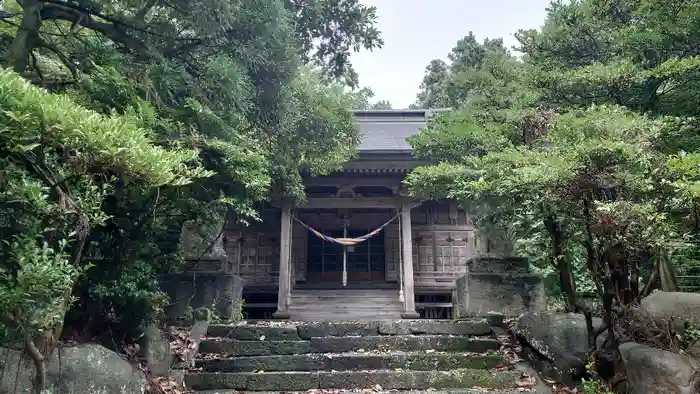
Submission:
{"label": "shorter left-hand slab of the second stone step from the top", "polygon": [[205,339],[199,344],[200,353],[236,356],[272,356],[310,353],[308,341],[237,341],[235,339]]}

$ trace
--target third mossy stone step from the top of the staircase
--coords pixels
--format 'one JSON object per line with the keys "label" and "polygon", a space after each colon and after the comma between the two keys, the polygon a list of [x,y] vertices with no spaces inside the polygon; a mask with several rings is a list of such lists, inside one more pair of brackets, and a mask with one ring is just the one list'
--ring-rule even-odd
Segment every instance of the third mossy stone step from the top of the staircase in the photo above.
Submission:
{"label": "third mossy stone step from the top of the staircase", "polygon": [[196,367],[205,372],[276,372],[276,371],[349,371],[349,370],[450,370],[491,369],[503,365],[497,354],[445,352],[391,352],[300,354],[286,356],[252,356],[197,360]]}

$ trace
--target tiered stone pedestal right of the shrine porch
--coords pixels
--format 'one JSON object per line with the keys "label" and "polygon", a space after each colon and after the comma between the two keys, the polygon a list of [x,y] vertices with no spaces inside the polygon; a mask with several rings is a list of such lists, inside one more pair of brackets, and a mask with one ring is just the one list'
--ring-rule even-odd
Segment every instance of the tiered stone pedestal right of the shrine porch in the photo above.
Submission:
{"label": "tiered stone pedestal right of the shrine porch", "polygon": [[485,317],[489,312],[518,316],[545,307],[542,279],[531,274],[527,259],[476,257],[467,262],[467,274],[456,281],[458,318]]}

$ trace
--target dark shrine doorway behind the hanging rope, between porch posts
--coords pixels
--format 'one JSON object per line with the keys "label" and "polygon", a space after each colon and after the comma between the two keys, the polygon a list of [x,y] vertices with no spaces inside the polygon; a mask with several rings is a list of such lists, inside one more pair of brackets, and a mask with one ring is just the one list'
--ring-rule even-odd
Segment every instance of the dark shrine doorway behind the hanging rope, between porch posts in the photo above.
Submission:
{"label": "dark shrine doorway behind the hanging rope, between porch posts", "polygon": [[[359,237],[373,229],[348,229],[346,237]],[[343,230],[326,231],[331,237],[343,237]],[[307,280],[309,282],[335,282],[343,280],[343,248],[347,250],[347,282],[383,282],[385,279],[384,233],[345,246],[324,241],[319,237],[308,238]]]}

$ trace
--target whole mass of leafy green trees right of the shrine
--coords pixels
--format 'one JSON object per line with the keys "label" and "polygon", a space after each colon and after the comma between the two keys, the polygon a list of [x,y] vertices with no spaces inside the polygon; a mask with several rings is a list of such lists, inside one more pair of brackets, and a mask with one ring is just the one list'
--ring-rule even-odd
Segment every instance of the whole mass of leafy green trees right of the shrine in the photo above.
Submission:
{"label": "whole mass of leafy green trees right of the shrine", "polygon": [[[679,245],[697,253],[699,6],[554,2],[542,29],[519,33],[522,60],[470,34],[421,85],[419,100],[437,91],[457,110],[412,139],[440,163],[409,175],[412,192],[511,229],[568,310],[590,317],[581,292],[599,295],[609,338],[626,306],[677,289]],[[624,363],[614,339],[604,346],[614,384]]]}

